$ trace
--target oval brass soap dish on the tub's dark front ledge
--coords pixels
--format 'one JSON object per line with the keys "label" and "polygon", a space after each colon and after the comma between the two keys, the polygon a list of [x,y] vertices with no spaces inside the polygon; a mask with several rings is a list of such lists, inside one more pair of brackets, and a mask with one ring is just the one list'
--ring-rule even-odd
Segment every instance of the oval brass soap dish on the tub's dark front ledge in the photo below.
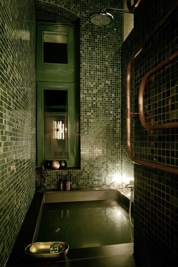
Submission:
{"label": "oval brass soap dish on the tub's dark front ledge", "polygon": [[37,242],[28,245],[25,252],[32,258],[62,258],[69,250],[65,242]]}

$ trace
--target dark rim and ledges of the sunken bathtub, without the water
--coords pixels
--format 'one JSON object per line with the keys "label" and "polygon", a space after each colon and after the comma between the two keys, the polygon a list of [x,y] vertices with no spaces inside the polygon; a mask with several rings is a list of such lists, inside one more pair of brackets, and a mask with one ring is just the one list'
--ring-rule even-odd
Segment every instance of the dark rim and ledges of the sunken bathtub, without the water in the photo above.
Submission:
{"label": "dark rim and ledges of the sunken bathtub, without the water", "polygon": [[[50,191],[45,193],[36,193],[6,266],[23,266],[27,263],[31,266],[40,266],[39,260],[28,258],[24,252],[24,249],[28,244],[34,243],[38,239],[39,227],[45,204],[50,205],[53,203],[60,203],[60,205],[62,205],[62,203],[64,203],[63,205],[70,205],[70,202],[72,202],[72,204],[78,202],[78,204],[87,203],[90,206],[90,203],[104,203],[105,205],[105,203],[108,202],[114,203],[113,201],[124,205],[123,207],[125,207],[125,216],[128,218],[128,210],[126,208],[129,206],[129,200],[117,189],[101,188],[96,190],[71,190],[68,192]],[[105,257],[109,259],[109,257],[115,255],[115,260],[117,260],[117,257],[120,257],[119,255],[127,254],[130,257],[132,253],[133,243],[76,248],[71,250],[69,247],[68,254],[58,261],[66,262],[67,265],[64,264],[63,266],[83,266],[83,264],[87,266],[85,261],[88,262],[88,255],[90,255],[90,258],[93,260],[96,258],[104,259]],[[74,260],[76,261],[77,265],[72,265]],[[82,262],[80,263],[81,260]],[[109,260],[106,266],[117,266],[116,262],[112,263],[112,265],[109,265],[111,264],[110,262],[111,261]],[[129,266],[128,262],[125,263],[125,265],[124,262],[122,264],[123,265],[121,266]],[[43,260],[41,266],[49,266],[49,261]],[[97,266],[99,266],[99,263],[97,263]],[[134,262],[132,262],[131,266],[134,266]]]}

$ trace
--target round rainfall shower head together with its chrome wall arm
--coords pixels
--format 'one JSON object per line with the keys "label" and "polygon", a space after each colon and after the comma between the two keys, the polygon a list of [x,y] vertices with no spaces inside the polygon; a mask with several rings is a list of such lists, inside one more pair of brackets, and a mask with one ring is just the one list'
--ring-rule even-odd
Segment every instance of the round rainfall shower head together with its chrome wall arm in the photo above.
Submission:
{"label": "round rainfall shower head together with its chrome wall arm", "polygon": [[121,13],[123,13],[123,12],[133,13],[133,11],[129,11],[129,10],[106,7],[104,9],[102,9],[101,12],[97,12],[97,13],[91,15],[89,17],[89,22],[95,26],[107,26],[107,25],[111,24],[113,22],[114,18],[110,13],[106,12],[106,9],[118,11]]}

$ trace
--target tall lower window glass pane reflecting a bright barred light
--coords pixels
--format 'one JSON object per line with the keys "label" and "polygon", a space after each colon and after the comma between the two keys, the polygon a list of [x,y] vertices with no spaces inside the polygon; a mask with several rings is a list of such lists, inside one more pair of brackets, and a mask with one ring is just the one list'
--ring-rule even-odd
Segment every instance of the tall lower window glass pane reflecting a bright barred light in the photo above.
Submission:
{"label": "tall lower window glass pane reflecting a bright barred light", "polygon": [[69,158],[67,90],[44,90],[45,159]]}

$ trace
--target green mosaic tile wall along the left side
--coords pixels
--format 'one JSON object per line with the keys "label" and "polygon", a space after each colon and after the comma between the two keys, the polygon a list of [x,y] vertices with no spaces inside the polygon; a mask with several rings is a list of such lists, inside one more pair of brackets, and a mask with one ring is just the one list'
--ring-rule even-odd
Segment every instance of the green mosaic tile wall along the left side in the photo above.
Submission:
{"label": "green mosaic tile wall along the left side", "polygon": [[0,1],[0,263],[35,192],[35,3]]}

